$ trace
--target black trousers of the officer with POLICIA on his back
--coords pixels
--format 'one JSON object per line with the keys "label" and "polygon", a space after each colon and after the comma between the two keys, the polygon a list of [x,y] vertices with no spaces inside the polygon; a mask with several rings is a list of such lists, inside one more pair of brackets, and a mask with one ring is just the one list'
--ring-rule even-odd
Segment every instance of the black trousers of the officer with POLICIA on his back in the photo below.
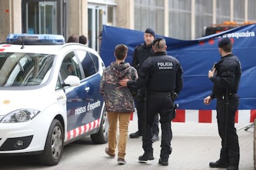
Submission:
{"label": "black trousers of the officer with POLICIA on his back", "polygon": [[145,152],[153,153],[153,119],[155,115],[160,113],[161,123],[161,154],[163,160],[169,158],[171,154],[171,139],[173,132],[171,131],[171,120],[173,119],[173,100],[171,100],[171,93],[148,94],[147,103],[147,129],[145,135],[143,134],[143,150]]}

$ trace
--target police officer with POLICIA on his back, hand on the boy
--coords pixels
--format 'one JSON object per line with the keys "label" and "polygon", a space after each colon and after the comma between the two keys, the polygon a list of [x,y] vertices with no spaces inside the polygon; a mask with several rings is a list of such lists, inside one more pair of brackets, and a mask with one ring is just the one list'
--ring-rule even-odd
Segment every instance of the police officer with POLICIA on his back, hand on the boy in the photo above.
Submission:
{"label": "police officer with POLICIA on his back, hand on the boy", "polygon": [[153,118],[160,113],[161,123],[161,153],[159,163],[167,166],[171,154],[171,120],[173,119],[174,103],[172,96],[174,92],[179,94],[183,86],[182,68],[177,59],[166,54],[166,41],[157,38],[152,43],[155,55],[148,57],[143,62],[139,79],[132,81],[124,79],[119,81],[121,86],[140,88],[147,86],[147,128],[143,134],[143,150],[139,161],[153,160],[152,147],[152,124]]}

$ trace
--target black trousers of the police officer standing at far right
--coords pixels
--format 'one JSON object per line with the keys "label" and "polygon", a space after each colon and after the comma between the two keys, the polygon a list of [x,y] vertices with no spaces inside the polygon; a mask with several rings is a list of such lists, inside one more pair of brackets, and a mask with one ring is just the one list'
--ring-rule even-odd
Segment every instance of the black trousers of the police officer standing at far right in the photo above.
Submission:
{"label": "black trousers of the police officer standing at far right", "polygon": [[238,167],[239,142],[236,134],[236,128],[234,127],[234,123],[236,110],[239,105],[239,98],[236,95],[229,99],[228,115],[226,115],[225,103],[225,100],[218,100],[216,104],[218,132],[221,137],[222,147],[220,152],[220,161],[223,163],[229,163],[231,166]]}

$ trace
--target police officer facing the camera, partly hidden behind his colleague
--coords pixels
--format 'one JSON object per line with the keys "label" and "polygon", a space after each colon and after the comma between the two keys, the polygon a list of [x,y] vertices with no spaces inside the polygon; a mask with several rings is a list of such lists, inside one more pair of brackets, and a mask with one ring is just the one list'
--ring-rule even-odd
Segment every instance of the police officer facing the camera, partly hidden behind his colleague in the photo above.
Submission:
{"label": "police officer facing the camera, partly hidden behind his colleague", "polygon": [[[136,68],[137,72],[140,72],[140,68],[142,67],[142,63],[148,59],[149,56],[154,54],[152,49],[152,42],[155,39],[155,31],[151,28],[147,28],[143,35],[144,43],[139,44],[134,49],[134,55],[132,58],[132,66]],[[143,111],[144,111],[144,97],[145,97],[145,89],[142,88],[139,90],[139,95],[135,98],[136,100],[136,108],[137,108],[137,116],[138,116],[138,131],[130,134],[130,138],[138,138],[142,136],[143,133]],[[158,114],[154,117],[153,121],[153,142],[159,140],[159,118]]]}

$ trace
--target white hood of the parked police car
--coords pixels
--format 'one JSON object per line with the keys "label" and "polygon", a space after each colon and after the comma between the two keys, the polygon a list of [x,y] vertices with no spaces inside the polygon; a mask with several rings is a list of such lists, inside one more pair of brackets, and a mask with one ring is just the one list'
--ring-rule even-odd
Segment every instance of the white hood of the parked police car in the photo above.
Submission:
{"label": "white hood of the parked police car", "polygon": [[0,90],[0,94],[0,118],[20,108],[32,108],[41,111],[47,105],[56,102],[56,98],[53,95],[49,95],[51,92],[46,92],[43,89],[36,89],[35,91]]}

